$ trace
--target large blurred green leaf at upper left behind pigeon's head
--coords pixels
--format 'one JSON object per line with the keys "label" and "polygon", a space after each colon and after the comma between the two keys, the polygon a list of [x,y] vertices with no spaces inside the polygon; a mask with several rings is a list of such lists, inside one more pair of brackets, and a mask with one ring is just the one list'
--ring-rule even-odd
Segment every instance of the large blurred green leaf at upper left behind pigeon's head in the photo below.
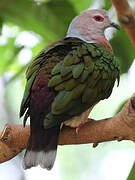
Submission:
{"label": "large blurred green leaf at upper left behind pigeon's head", "polygon": [[[64,8],[63,8],[64,7]],[[52,0],[38,5],[33,1],[16,1],[1,9],[5,20],[25,30],[40,34],[48,43],[63,36],[76,12],[72,4],[63,0]]]}

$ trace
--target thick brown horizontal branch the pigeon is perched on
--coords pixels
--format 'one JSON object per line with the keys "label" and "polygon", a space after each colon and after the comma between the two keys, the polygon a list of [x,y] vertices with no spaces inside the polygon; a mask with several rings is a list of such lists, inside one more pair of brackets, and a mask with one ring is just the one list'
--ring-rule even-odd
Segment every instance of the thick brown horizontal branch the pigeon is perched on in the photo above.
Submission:
{"label": "thick brown horizontal branch the pigeon is perched on", "polygon": [[[5,162],[26,148],[30,135],[29,126],[6,125],[0,134],[0,163]],[[116,116],[88,122],[76,134],[74,128],[64,127],[59,145],[94,143],[112,140],[135,141],[135,94]]]}

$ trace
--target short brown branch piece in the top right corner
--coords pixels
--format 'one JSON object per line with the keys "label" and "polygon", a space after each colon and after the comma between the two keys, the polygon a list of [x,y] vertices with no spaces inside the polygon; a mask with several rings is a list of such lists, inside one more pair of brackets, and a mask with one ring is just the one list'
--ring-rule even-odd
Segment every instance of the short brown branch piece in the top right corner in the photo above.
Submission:
{"label": "short brown branch piece in the top right corner", "polygon": [[127,0],[112,0],[115,6],[118,19],[126,30],[135,48],[135,15],[132,12]]}

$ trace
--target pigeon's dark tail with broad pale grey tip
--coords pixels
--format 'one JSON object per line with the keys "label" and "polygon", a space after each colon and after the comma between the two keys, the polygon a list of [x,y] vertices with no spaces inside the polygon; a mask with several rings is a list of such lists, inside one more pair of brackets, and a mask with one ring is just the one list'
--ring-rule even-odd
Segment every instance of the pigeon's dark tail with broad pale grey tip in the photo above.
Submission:
{"label": "pigeon's dark tail with broad pale grey tip", "polygon": [[29,169],[40,165],[50,170],[53,167],[58,144],[59,126],[49,129],[31,129],[28,147],[24,155],[23,167]]}

